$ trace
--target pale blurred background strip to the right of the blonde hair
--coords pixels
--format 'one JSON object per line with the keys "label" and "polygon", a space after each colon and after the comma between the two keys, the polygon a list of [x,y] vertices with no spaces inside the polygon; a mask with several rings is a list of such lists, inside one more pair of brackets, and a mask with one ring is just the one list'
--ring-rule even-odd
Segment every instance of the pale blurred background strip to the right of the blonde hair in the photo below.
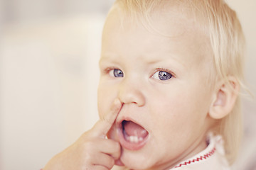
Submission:
{"label": "pale blurred background strip to the right of the blonde hair", "polygon": [[[256,97],[256,1],[254,0],[229,0],[230,6],[237,11],[247,41],[247,58],[245,62],[245,78],[247,86]],[[242,143],[241,154],[235,170],[256,169],[256,101],[255,98],[245,97],[243,101],[245,113],[245,138]]]}

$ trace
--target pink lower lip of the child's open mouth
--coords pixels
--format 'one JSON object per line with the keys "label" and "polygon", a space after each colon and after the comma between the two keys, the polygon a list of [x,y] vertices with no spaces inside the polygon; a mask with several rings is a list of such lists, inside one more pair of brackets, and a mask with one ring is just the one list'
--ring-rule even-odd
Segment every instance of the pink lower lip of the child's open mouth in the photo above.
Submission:
{"label": "pink lower lip of the child's open mouth", "polygon": [[142,140],[141,142],[129,142],[127,140],[125,140],[124,138],[124,133],[123,133],[123,130],[122,130],[122,127],[120,128],[117,128],[117,135],[119,137],[119,142],[120,142],[120,145],[122,147],[124,147],[125,149],[128,149],[128,150],[139,150],[139,149],[142,149],[142,147],[144,147],[144,145],[146,145],[146,142],[148,142],[149,140],[149,135],[147,135],[144,140]]}

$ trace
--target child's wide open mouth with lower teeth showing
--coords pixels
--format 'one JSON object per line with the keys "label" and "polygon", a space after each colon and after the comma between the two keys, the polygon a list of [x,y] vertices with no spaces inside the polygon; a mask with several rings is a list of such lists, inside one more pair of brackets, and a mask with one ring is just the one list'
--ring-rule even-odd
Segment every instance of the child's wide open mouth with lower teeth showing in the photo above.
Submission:
{"label": "child's wide open mouth with lower teeth showing", "polygon": [[119,123],[119,142],[126,149],[141,149],[146,144],[148,136],[149,132],[146,129],[131,120],[122,120],[122,123]]}

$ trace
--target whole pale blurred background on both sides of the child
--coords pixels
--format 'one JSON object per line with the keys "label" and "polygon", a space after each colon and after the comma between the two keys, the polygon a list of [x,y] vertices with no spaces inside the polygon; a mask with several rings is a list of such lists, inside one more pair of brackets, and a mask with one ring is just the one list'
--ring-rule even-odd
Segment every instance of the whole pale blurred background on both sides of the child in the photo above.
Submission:
{"label": "whole pale blurred background on both sides of the child", "polygon": [[[41,169],[97,121],[102,26],[114,0],[0,0],[0,169]],[[229,0],[256,96],[256,1]],[[256,102],[243,100],[234,169],[256,169]]]}

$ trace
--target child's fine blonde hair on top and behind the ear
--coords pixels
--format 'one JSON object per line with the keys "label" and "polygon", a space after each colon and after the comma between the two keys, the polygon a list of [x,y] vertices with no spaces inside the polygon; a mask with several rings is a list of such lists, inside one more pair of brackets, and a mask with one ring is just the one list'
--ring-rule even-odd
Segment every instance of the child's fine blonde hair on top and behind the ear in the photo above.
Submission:
{"label": "child's fine blonde hair on top and behind the ear", "polygon": [[[215,62],[218,79],[227,83],[228,76],[235,77],[243,86],[243,58],[245,38],[238,17],[223,0],[117,0],[114,6],[119,6],[129,13],[131,18],[140,20],[150,26],[150,15],[154,8],[165,2],[175,2],[185,5],[193,11],[195,19],[210,38],[210,47]],[[142,16],[142,17],[138,17]],[[240,96],[230,114],[218,120],[214,131],[222,135],[225,141],[226,157],[233,163],[238,153],[242,137],[242,113],[240,111]]]}

